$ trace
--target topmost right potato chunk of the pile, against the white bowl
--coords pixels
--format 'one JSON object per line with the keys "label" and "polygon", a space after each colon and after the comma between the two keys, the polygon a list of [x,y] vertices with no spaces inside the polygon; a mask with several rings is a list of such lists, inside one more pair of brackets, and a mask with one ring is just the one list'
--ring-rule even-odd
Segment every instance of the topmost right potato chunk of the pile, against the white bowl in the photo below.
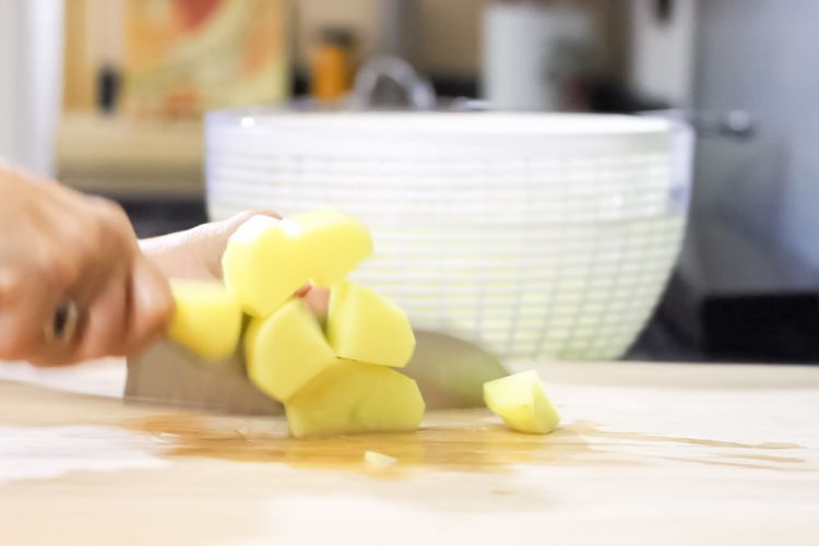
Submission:
{"label": "topmost right potato chunk of the pile, against the white bowl", "polygon": [[366,225],[341,211],[322,209],[293,216],[300,226],[300,256],[309,262],[313,285],[330,287],[372,253]]}

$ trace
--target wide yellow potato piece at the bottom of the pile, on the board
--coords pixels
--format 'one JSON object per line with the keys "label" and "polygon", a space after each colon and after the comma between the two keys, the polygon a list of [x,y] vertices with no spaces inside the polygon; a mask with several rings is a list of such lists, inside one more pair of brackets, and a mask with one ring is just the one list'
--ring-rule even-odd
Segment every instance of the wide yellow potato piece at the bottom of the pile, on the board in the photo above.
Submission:
{"label": "wide yellow potato piece at the bottom of the pile, on the board", "polygon": [[418,385],[383,366],[339,359],[285,404],[293,436],[416,430]]}

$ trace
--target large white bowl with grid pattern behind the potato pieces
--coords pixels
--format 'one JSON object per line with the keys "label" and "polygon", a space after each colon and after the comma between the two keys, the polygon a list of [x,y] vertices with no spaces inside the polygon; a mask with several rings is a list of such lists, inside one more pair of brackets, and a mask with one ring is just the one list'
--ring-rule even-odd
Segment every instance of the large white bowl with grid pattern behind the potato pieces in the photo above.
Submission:
{"label": "large white bowl with grid pattern behind the potato pieces", "polygon": [[376,241],[356,278],[501,357],[621,356],[679,250],[690,134],[666,120],[233,110],[206,124],[214,218],[356,214]]}

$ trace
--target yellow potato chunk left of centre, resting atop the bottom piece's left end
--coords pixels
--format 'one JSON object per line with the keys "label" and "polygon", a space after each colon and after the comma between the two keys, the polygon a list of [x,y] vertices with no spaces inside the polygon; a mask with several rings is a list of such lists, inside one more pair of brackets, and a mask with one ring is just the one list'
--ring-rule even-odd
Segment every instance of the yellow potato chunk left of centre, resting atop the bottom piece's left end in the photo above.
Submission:
{"label": "yellow potato chunk left of centre, resting atop the bottom piece's left end", "polygon": [[296,297],[266,319],[252,319],[245,358],[250,379],[280,402],[335,363],[318,320]]}

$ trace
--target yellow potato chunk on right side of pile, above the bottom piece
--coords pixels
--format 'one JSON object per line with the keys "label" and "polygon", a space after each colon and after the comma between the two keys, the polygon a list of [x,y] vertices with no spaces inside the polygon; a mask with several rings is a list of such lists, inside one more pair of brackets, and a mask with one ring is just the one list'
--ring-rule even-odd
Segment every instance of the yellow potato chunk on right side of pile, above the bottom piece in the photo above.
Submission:
{"label": "yellow potato chunk on right side of pile, above the bottom piece", "polygon": [[330,293],[327,335],[336,355],[359,363],[400,368],[415,351],[406,313],[380,294],[349,281]]}

